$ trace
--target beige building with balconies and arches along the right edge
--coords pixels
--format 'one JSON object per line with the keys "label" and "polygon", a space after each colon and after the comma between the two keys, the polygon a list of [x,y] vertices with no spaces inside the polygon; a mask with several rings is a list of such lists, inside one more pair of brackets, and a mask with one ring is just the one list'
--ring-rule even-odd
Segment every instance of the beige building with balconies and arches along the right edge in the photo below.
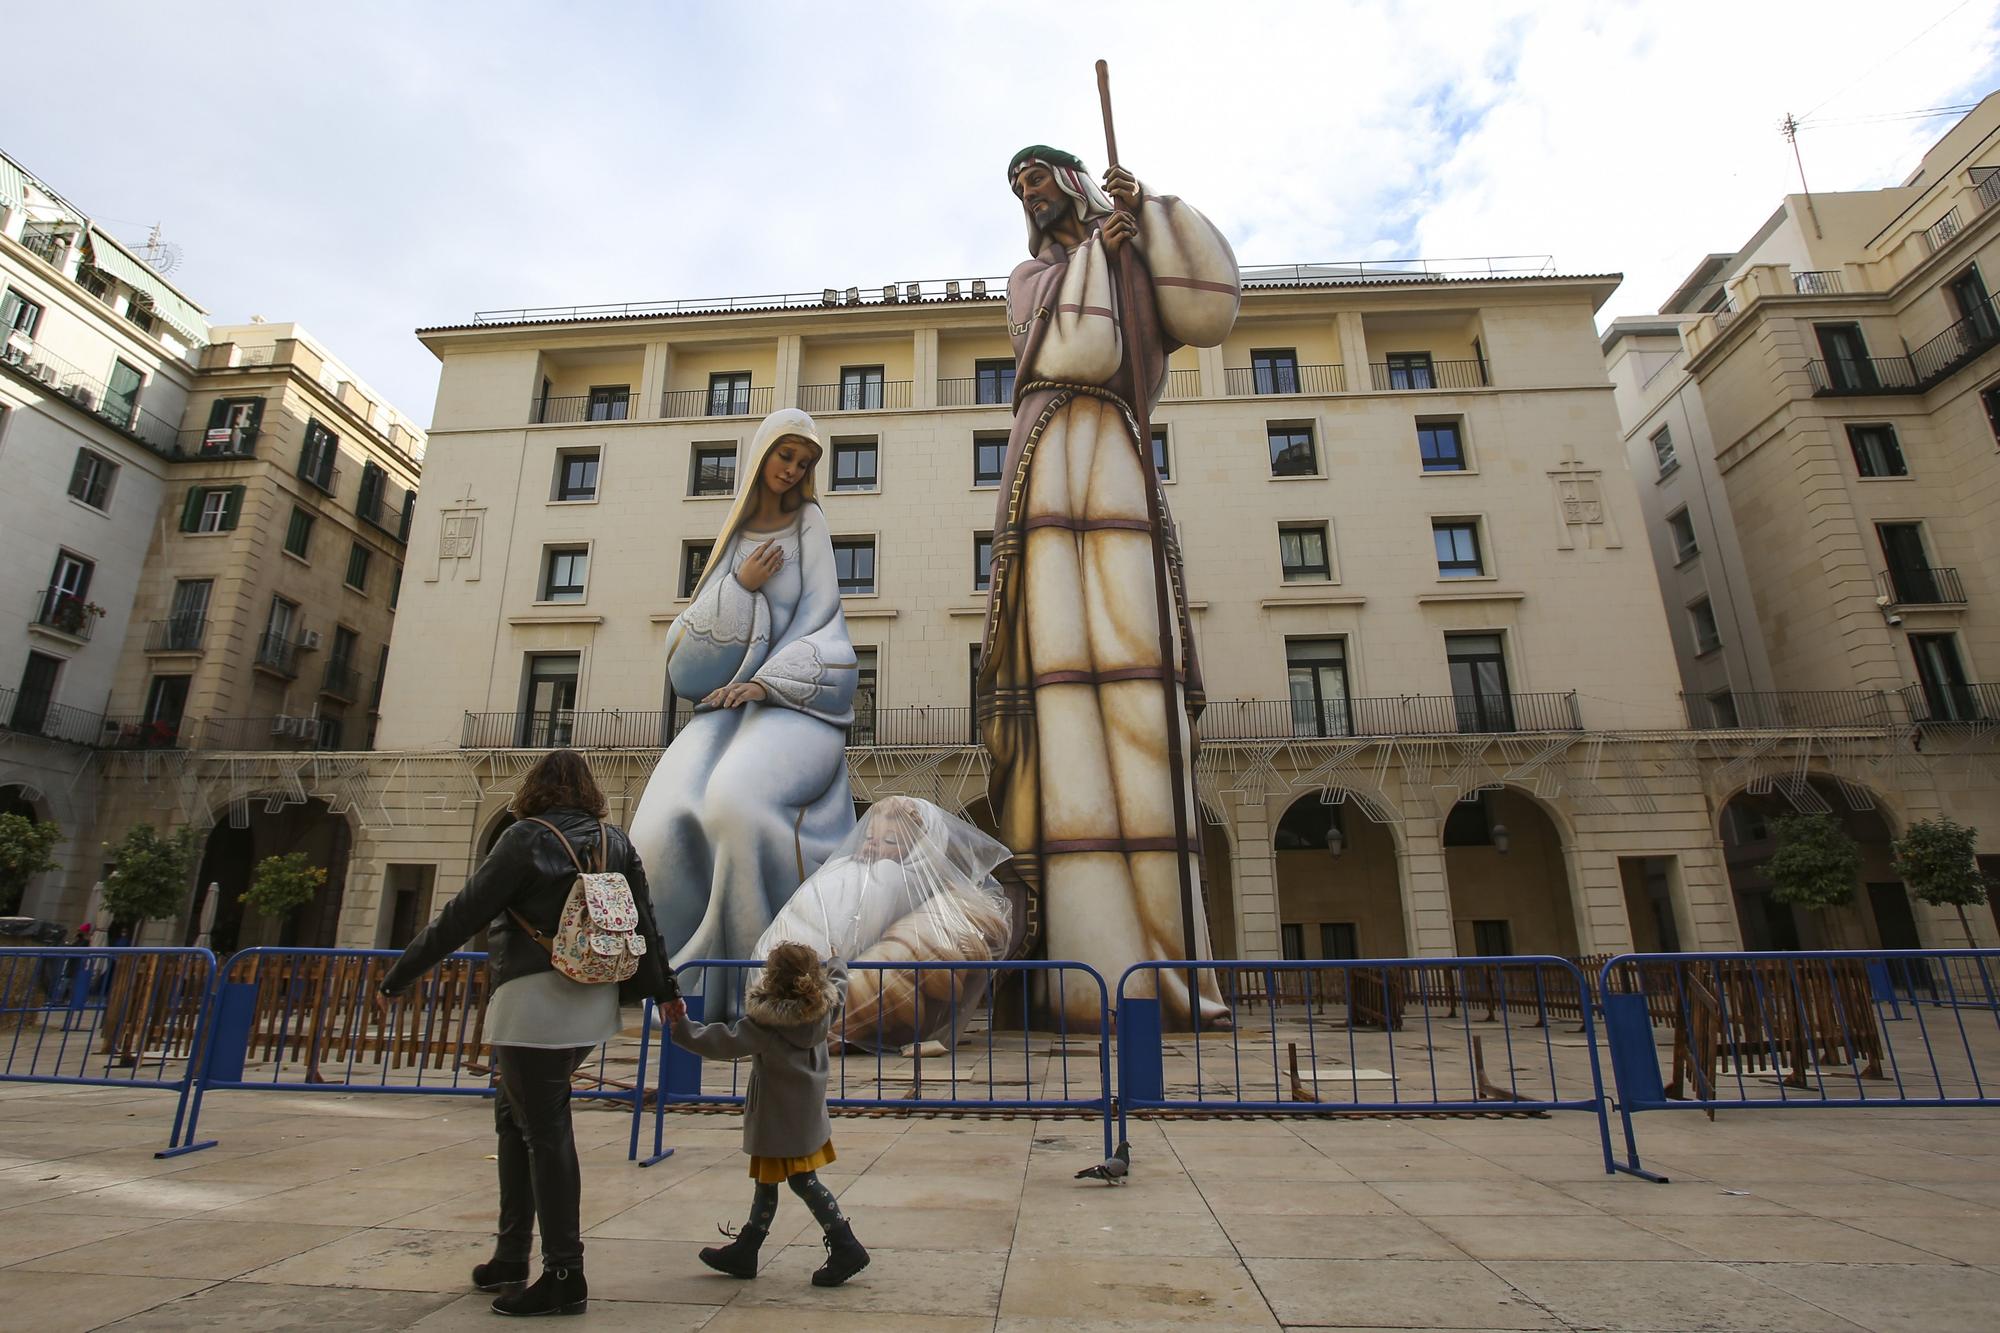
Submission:
{"label": "beige building with balconies and arches along the right edge", "polygon": [[[1996,202],[1988,96],[1904,184],[1786,196],[1602,340],[1688,725],[1790,763],[1718,825],[1752,945],[1964,943],[1910,913],[1886,843],[1948,813],[2000,853]],[[1758,871],[1792,809],[1864,847],[1832,933]]]}

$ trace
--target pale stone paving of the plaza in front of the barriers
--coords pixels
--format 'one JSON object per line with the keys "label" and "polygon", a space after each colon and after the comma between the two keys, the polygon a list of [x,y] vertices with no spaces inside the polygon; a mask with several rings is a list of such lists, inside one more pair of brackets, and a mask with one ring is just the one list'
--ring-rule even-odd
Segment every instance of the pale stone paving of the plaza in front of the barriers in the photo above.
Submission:
{"label": "pale stone paving of the plaza in front of the barriers", "polygon": [[[158,1161],[168,1093],[0,1085],[0,1327],[496,1327],[492,1111],[218,1093],[220,1147]],[[738,1121],[674,1115],[636,1169],[578,1109],[604,1329],[1992,1329],[2000,1115],[1640,1119],[1670,1185],[1602,1175],[1596,1121],[1134,1121],[1132,1179],[1076,1181],[1086,1121],[836,1121],[824,1173],[874,1251],[842,1289],[784,1195],[766,1271]]]}

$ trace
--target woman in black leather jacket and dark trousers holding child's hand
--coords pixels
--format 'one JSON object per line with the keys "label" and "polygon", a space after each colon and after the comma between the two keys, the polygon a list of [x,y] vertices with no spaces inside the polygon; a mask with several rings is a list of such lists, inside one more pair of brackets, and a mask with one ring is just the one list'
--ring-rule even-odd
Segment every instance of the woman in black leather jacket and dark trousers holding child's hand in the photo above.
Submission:
{"label": "woman in black leather jacket and dark trousers holding child's hand", "polygon": [[[542,1225],[542,1277],[494,1301],[502,1315],[574,1315],[588,1303],[578,1225],[582,1171],[570,1131],[570,1075],[590,1049],[618,1035],[616,985],[584,985],[554,971],[548,947],[576,883],[576,867],[622,871],[638,905],[646,955],[626,987],[668,1003],[678,991],[646,891],[646,867],[626,835],[604,823],[604,793],[576,751],[550,751],[522,779],[518,823],[388,969],[376,1007],[458,951],[486,927],[492,999],[486,1041],[500,1073],[494,1129],[500,1133],[500,1233],[490,1263],[472,1269],[480,1291],[528,1281],[534,1227]],[[574,861],[570,859],[574,853]],[[534,931],[534,933],[530,933]]]}

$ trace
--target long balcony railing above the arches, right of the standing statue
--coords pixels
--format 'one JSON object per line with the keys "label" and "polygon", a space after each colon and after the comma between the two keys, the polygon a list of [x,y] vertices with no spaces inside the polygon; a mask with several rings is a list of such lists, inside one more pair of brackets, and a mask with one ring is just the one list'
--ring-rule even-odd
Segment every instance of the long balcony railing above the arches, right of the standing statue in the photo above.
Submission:
{"label": "long balcony railing above the arches, right of the standing statue", "polygon": [[1196,735],[1204,741],[1296,741],[1310,737],[1456,737],[1480,733],[1582,731],[1576,693],[1402,695],[1396,699],[1210,701]]}

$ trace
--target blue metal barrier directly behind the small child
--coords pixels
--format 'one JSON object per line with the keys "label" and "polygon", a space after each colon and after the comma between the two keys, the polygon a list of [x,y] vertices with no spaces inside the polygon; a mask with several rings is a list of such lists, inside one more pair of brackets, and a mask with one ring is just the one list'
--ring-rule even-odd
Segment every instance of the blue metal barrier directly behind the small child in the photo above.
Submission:
{"label": "blue metal barrier directly behind the small child", "polygon": [[[758,959],[694,959],[676,969],[688,995],[688,1017],[702,1021],[710,997],[738,997]],[[940,1021],[952,1041],[942,1055],[924,1055],[922,1045],[904,1047],[892,1025],[892,1005],[872,1005],[856,1017],[852,1007],[834,1015],[834,1041],[842,1033],[854,1045],[834,1057],[828,1077],[828,1105],[848,1111],[1022,1111],[1092,1115],[1104,1125],[1104,1155],[1112,1153],[1112,1071],[1110,993],[1094,969],[1082,963],[848,963],[852,977],[876,975],[876,995],[906,983],[914,1027],[926,1027],[924,1013]],[[942,985],[936,977],[944,977]],[[1036,993],[1040,979],[1040,995]],[[1076,1031],[1062,1003],[1070,987],[1080,987],[1084,1005],[1096,1001],[1096,1031]],[[970,999],[968,999],[970,997]],[[940,1015],[942,1007],[942,1015]],[[1030,1027],[1032,1015],[1048,1011],[1048,1027]],[[854,1023],[852,1029],[846,1025]],[[898,1047],[910,1055],[898,1053]],[[1072,1071],[1072,1057],[1088,1059],[1088,1071]],[[660,1027],[660,1087],[652,1117],[652,1157],[670,1157],[666,1141],[668,1105],[734,1107],[744,1101],[748,1073],[742,1061],[710,1063],[674,1047],[668,1025]],[[636,1123],[634,1123],[636,1131]]]}

